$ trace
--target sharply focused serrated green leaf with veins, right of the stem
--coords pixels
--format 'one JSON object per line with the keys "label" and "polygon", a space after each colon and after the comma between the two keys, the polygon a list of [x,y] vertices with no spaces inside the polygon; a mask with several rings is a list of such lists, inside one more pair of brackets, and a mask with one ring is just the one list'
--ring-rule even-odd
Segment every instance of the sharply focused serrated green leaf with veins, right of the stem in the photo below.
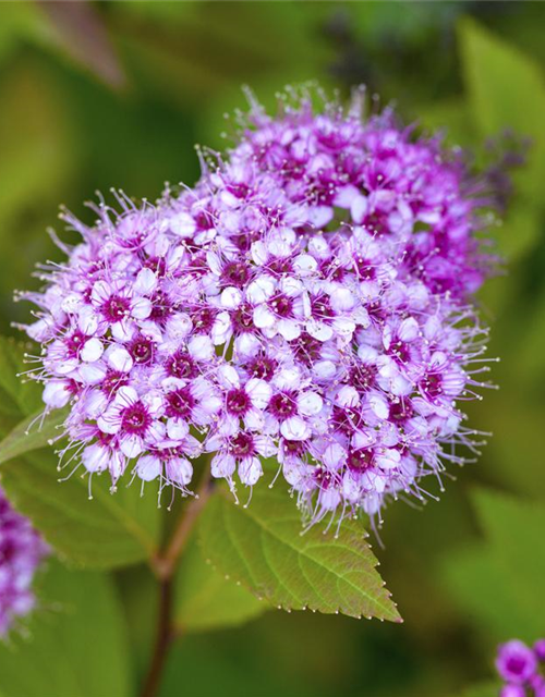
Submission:
{"label": "sharply focused serrated green leaf with veins, right of the stem", "polygon": [[300,511],[280,486],[256,489],[247,508],[219,491],[199,536],[206,560],[275,606],[401,620],[361,523],[343,521],[338,537],[319,525],[302,535]]}

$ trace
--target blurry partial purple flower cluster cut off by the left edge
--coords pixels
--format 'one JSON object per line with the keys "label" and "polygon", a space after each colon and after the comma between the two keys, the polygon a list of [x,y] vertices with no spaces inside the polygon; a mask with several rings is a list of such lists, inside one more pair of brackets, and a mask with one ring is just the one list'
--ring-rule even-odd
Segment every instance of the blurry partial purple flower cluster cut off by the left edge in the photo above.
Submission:
{"label": "blurry partial purple flower cluster cut off by the left edge", "polygon": [[41,537],[0,489],[0,639],[33,609],[34,574],[47,553]]}

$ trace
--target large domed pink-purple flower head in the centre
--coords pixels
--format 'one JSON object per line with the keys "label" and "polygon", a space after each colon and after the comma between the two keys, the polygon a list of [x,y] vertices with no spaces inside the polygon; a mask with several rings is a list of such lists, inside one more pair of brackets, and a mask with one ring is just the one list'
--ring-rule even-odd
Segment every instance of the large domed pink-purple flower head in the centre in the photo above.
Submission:
{"label": "large domed pink-purple flower head in the centre", "polygon": [[422,498],[474,447],[458,403],[487,369],[484,201],[460,152],[356,101],[253,105],[193,188],[118,194],[92,228],[64,215],[83,242],[21,296],[47,409],[70,404],[68,463],[187,492],[202,453],[233,490],[274,458],[316,521]]}

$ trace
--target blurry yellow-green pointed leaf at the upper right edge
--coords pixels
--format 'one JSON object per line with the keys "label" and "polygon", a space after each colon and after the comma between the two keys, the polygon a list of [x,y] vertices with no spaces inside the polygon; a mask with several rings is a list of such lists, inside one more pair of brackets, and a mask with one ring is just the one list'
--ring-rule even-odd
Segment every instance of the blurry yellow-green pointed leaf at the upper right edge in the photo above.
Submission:
{"label": "blurry yellow-green pointed leaf at the upper right edge", "polygon": [[512,129],[530,136],[529,163],[517,180],[540,201],[545,178],[545,80],[540,65],[469,19],[460,23],[463,73],[473,118],[484,135]]}

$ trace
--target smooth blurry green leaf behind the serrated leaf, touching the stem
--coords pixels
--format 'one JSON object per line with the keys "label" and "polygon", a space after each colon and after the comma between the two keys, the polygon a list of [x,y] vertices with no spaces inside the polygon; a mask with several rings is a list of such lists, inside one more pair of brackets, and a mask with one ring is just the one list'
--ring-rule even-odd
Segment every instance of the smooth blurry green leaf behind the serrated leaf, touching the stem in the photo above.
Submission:
{"label": "smooth blurry green leaf behind the serrated leaf, touching the stem", "polygon": [[184,633],[234,626],[270,609],[207,564],[195,538],[180,562],[174,594],[175,624]]}

